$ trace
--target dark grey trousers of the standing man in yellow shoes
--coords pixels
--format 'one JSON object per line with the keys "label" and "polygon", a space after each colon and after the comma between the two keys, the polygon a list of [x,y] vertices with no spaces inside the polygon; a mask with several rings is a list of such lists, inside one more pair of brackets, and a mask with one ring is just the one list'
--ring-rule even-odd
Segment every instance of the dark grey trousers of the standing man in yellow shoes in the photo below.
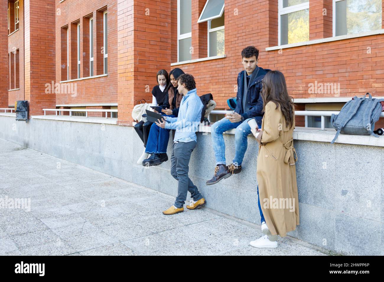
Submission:
{"label": "dark grey trousers of the standing man in yellow shoes", "polygon": [[189,160],[196,147],[196,141],[173,143],[172,156],[170,157],[170,173],[178,181],[175,207],[181,208],[187,200],[187,192],[191,193],[194,201],[199,201],[203,196],[188,177]]}

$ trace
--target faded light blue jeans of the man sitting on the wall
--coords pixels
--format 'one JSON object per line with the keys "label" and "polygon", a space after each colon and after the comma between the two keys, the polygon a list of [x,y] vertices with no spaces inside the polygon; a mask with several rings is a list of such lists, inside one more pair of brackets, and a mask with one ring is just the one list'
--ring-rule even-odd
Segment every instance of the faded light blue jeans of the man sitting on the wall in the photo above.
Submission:
{"label": "faded light blue jeans of the man sitting on the wall", "polygon": [[211,128],[212,144],[215,151],[216,165],[225,165],[225,143],[223,133],[227,130],[236,128],[235,131],[235,158],[233,163],[241,165],[243,162],[245,151],[247,151],[248,141],[247,136],[251,133],[246,119],[243,122],[230,122],[229,119],[223,119],[215,122]]}

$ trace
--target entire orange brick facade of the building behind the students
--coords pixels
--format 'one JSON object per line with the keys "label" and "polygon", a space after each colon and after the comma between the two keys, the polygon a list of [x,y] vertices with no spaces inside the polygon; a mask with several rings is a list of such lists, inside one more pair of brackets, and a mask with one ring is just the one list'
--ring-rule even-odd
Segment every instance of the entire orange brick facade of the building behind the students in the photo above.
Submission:
{"label": "entire orange brick facade of the building behind the students", "polygon": [[[1,59],[7,63],[0,65],[0,104],[4,104],[7,96],[5,104],[13,105],[16,99],[24,99],[24,92],[25,99],[31,99],[33,91],[40,91],[41,100],[35,100],[38,109],[43,102],[52,106],[118,102],[119,124],[129,124],[135,102],[141,98],[151,101],[157,71],[179,67],[195,76],[200,95],[210,92],[217,108],[226,108],[228,97],[236,95],[237,74],[243,70],[240,53],[248,45],[260,50],[259,66],[278,69],[285,74],[289,94],[295,98],[351,97],[365,92],[384,96],[384,35],[266,51],[266,47],[278,44],[277,3],[277,0],[226,0],[226,58],[170,66],[177,61],[177,0],[66,0],[62,3],[55,0],[54,9],[50,7],[49,11],[43,4],[38,11],[38,1],[28,1],[25,2],[28,10],[25,27],[24,3],[20,0],[20,30],[7,36],[8,47],[4,46],[7,23],[0,23],[3,27],[0,48],[8,48],[6,53],[14,47],[20,50],[20,90],[5,93],[9,88],[9,63],[8,57],[2,55]],[[207,56],[207,22],[197,24],[204,4],[205,0],[192,0],[192,59]],[[6,5],[1,7],[3,15],[7,13],[6,8]],[[45,83],[57,84],[66,79],[65,28],[70,31],[70,79],[77,78],[77,22],[80,22],[81,33],[81,77],[89,75],[89,16],[94,18],[94,75],[103,74],[101,48],[105,9],[108,10],[108,76],[62,83],[67,89],[76,89],[75,93],[61,90],[56,95],[43,93]],[[51,27],[45,28],[45,25],[52,18],[55,32],[50,36]],[[41,24],[39,27],[43,31],[35,21]],[[384,17],[382,23],[384,26]],[[332,36],[332,1],[310,0],[310,39],[329,36]],[[48,48],[52,38],[56,38],[53,51]],[[21,45],[23,41],[25,51]],[[49,51],[42,49],[39,42]],[[339,83],[340,93],[310,93],[311,83]]]}

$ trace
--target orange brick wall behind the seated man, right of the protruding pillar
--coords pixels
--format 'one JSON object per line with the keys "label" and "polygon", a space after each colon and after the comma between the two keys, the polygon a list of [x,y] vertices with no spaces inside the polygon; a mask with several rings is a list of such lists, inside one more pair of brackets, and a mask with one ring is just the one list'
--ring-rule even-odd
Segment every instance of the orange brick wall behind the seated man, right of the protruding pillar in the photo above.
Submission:
{"label": "orange brick wall behind the seated man, right of the protruding pillar", "polygon": [[[192,0],[192,6],[197,2]],[[332,35],[331,2],[310,0],[310,39]],[[323,15],[323,8],[327,9],[326,16]],[[177,61],[176,0],[171,0],[171,9],[170,29],[176,31],[171,43],[171,62],[174,63]],[[193,74],[198,93],[212,93],[218,108],[227,107],[228,97],[235,96],[237,74],[243,70],[240,53],[248,45],[254,45],[260,50],[259,66],[284,73],[289,94],[295,98],[351,97],[362,96],[366,92],[384,96],[384,35],[265,51],[266,47],[277,45],[277,0],[230,0],[225,1],[224,10],[227,57],[169,68],[179,67]],[[192,11],[197,13],[197,9]],[[192,18],[196,19],[197,15],[192,15]],[[195,30],[192,29],[192,38]],[[196,48],[194,52],[199,54]],[[315,81],[340,83],[340,93],[309,93],[308,84]]]}

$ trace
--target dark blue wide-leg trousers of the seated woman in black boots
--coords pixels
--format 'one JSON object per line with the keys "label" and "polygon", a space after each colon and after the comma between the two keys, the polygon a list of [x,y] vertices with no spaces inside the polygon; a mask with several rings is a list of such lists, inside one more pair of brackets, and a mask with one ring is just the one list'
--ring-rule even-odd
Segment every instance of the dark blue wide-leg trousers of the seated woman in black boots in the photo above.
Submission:
{"label": "dark blue wide-leg trousers of the seated woman in black boots", "polygon": [[[174,115],[164,115],[166,117],[174,117]],[[167,152],[170,129],[165,129],[153,124],[149,131],[146,153],[163,154]]]}

